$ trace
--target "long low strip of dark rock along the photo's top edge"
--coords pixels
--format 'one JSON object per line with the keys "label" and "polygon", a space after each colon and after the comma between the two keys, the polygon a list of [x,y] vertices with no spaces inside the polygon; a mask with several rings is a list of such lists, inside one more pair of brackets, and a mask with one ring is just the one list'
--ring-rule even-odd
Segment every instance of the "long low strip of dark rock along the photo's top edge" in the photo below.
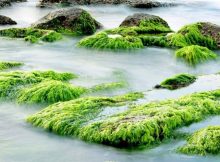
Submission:
{"label": "long low strip of dark rock along the photo's top edge", "polygon": [[174,3],[155,0],[41,0],[39,6],[51,6],[54,3],[68,3],[74,5],[125,4],[135,8],[153,8],[174,5]]}

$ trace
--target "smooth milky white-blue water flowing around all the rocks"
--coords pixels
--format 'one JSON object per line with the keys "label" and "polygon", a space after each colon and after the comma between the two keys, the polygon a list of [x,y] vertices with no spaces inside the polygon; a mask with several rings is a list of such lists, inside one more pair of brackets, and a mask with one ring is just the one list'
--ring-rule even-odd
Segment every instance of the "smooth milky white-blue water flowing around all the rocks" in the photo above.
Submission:
{"label": "smooth milky white-blue water flowing around all the rocks", "polygon": [[[105,28],[117,27],[128,15],[144,12],[159,15],[173,30],[196,21],[220,24],[220,2],[218,0],[180,0],[181,5],[169,8],[132,9],[116,6],[79,6],[89,11]],[[27,27],[54,10],[36,7],[35,1],[14,4],[0,10],[18,22],[15,27]],[[7,27],[7,26],[6,26]],[[2,28],[2,27],[1,27]],[[4,27],[5,28],[5,27]],[[177,61],[174,51],[161,48],[145,48],[131,52],[103,52],[79,49],[76,43],[81,38],[69,38],[56,43],[28,44],[22,40],[0,39],[1,61],[22,61],[21,70],[68,71],[80,75],[72,82],[92,86],[111,81],[127,81],[128,87],[113,95],[126,91],[144,91],[144,101],[177,98],[193,92],[218,89],[220,60],[191,68]],[[220,54],[220,51],[216,51]],[[177,91],[151,90],[155,84],[178,73],[204,75],[187,88]],[[174,140],[147,150],[125,150],[109,146],[89,144],[77,139],[60,137],[25,123],[27,115],[38,111],[37,107],[22,107],[14,103],[0,104],[0,162],[219,162],[219,156],[185,156],[175,153],[175,148],[184,141]],[[123,111],[126,108],[119,108]],[[105,110],[107,111],[107,109]],[[110,111],[110,112],[109,112]],[[111,110],[107,113],[114,113]],[[106,112],[104,112],[106,113]],[[219,117],[182,128],[193,132],[207,125],[220,124]]]}

